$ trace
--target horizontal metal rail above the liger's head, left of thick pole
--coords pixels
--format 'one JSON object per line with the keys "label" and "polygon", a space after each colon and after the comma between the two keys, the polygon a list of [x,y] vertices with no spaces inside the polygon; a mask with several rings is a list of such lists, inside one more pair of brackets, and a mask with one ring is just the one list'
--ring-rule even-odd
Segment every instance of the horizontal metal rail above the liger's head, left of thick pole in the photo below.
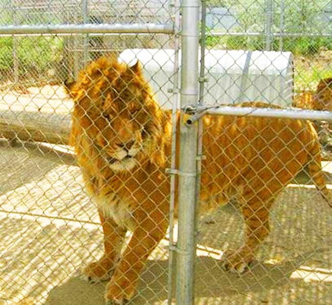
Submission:
{"label": "horizontal metal rail above the liger's head, left of thick pole", "polygon": [[173,24],[25,24],[0,26],[0,35],[5,34],[88,34],[88,33],[163,33],[173,34]]}

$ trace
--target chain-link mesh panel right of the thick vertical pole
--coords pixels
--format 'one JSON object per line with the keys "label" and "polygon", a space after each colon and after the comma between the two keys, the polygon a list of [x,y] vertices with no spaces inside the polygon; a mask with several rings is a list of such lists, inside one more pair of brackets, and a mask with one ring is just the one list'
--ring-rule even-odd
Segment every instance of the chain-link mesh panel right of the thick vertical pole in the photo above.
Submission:
{"label": "chain-link mesh panel right of the thick vertical pole", "polygon": [[[329,1],[203,3],[202,105],[332,110]],[[330,125],[213,114],[202,125],[200,207],[219,208],[199,219],[195,303],[329,303],[332,217],[316,171],[331,204]]]}

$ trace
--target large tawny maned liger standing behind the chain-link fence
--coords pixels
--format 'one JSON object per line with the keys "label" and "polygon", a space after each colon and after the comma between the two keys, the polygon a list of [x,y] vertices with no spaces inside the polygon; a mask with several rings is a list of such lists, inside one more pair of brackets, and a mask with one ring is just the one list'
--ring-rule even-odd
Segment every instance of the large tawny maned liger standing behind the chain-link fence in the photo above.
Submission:
{"label": "large tawny maned liger standing behind the chain-link fence", "polygon": [[[170,181],[165,169],[171,166],[171,112],[158,106],[139,62],[129,67],[114,58],[99,58],[66,88],[74,99],[70,141],[104,232],[104,255],[83,272],[91,282],[109,279],[106,303],[124,304],[168,228]],[[186,117],[178,114],[178,127]],[[317,133],[306,120],[263,117],[205,115],[203,126],[200,210],[236,197],[246,238],[223,264],[242,273],[269,234],[276,196],[305,164],[332,205]],[[178,155],[179,141],[176,146]],[[176,200],[175,216],[177,206]],[[132,237],[121,251],[127,231]]]}

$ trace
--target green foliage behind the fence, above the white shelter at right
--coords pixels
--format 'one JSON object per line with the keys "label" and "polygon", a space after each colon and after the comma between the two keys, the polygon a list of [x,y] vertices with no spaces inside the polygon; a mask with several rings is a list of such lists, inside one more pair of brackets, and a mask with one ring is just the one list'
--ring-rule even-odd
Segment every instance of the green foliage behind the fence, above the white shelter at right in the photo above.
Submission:
{"label": "green foliage behind the fence, above the white shelter at right", "polygon": [[[281,7],[280,1],[273,2],[273,22],[271,31],[274,33],[314,33],[320,34],[328,31],[331,24],[322,18],[322,12],[328,6],[330,0],[284,0]],[[236,32],[256,32],[262,36],[225,36],[218,41],[209,36],[208,47],[222,44],[229,49],[257,49],[265,48],[265,28],[266,28],[266,0],[210,0],[208,6],[219,6],[229,8],[241,24]],[[281,12],[283,23],[281,20]],[[282,38],[282,49],[294,54],[310,55],[315,54],[321,47],[332,49],[332,39],[322,37],[284,37]],[[271,42],[272,50],[280,49],[280,39],[274,37]]]}

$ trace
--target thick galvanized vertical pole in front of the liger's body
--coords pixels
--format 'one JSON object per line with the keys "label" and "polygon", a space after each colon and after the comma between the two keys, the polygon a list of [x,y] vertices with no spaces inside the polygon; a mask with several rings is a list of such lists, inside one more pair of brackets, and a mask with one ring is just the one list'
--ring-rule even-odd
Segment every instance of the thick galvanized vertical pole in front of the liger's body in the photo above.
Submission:
{"label": "thick galvanized vertical pole in front of the liger's body", "polygon": [[[199,1],[183,0],[181,31],[181,108],[198,101]],[[179,207],[177,242],[176,303],[194,302],[196,256],[196,157],[198,124],[180,118]]]}

